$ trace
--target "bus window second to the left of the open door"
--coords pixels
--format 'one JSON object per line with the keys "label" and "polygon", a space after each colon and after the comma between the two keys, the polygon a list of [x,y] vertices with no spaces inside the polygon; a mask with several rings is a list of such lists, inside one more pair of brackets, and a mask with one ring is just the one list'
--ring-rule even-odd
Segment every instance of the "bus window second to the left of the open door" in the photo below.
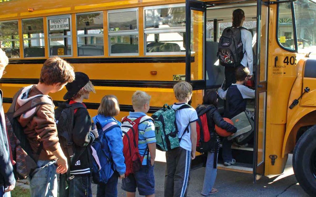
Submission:
{"label": "bus window second to the left of the open door", "polygon": [[138,55],[138,8],[108,11],[110,55]]}

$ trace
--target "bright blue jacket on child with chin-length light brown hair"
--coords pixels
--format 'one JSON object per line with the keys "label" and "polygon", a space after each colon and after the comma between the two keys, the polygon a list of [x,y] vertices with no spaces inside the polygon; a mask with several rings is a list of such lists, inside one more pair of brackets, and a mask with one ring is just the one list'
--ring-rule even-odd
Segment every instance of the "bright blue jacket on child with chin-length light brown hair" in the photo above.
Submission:
{"label": "bright blue jacket on child with chin-length light brown hair", "polygon": [[[109,116],[99,114],[97,116],[94,116],[92,119],[94,123],[99,122],[102,128],[110,122],[116,122],[119,126],[121,126],[121,123],[119,121]],[[118,171],[120,175],[124,174],[126,171],[126,166],[124,163],[125,159],[123,155],[122,134],[123,133],[120,127],[114,127],[105,133],[104,136],[106,139],[102,138],[102,136],[99,136],[100,140],[107,141],[110,154],[113,159],[114,170]]]}

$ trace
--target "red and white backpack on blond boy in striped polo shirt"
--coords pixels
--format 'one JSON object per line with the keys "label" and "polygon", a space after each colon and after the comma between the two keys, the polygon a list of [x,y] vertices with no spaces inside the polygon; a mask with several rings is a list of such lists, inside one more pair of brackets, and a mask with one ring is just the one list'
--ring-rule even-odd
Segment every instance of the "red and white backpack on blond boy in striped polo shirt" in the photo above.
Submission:
{"label": "red and white backpack on blond boy in striped polo shirt", "polygon": [[[140,170],[145,155],[140,155],[138,150],[138,125],[148,119],[149,116],[141,116],[136,120],[124,117],[122,119],[123,154],[125,158],[125,177]],[[146,151],[145,151],[146,153]]]}

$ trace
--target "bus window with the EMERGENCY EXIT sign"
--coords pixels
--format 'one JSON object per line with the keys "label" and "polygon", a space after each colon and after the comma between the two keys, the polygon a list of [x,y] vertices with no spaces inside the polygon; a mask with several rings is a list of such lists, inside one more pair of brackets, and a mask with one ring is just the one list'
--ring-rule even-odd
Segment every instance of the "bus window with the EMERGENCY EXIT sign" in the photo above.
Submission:
{"label": "bus window with the EMERGENCY EXIT sign", "polygon": [[47,17],[49,54],[72,56],[70,15]]}

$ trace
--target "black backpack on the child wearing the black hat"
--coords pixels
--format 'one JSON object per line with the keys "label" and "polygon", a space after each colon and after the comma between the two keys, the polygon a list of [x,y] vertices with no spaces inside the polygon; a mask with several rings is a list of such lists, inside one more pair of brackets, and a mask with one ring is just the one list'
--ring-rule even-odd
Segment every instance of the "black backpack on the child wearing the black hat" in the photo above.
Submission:
{"label": "black backpack on the child wearing the black hat", "polygon": [[[68,158],[74,156],[72,130],[74,128],[75,109],[85,108],[82,103],[69,104],[68,102],[58,103],[55,109],[55,121],[58,131],[58,138],[64,154]],[[70,161],[70,160],[69,160]]]}

